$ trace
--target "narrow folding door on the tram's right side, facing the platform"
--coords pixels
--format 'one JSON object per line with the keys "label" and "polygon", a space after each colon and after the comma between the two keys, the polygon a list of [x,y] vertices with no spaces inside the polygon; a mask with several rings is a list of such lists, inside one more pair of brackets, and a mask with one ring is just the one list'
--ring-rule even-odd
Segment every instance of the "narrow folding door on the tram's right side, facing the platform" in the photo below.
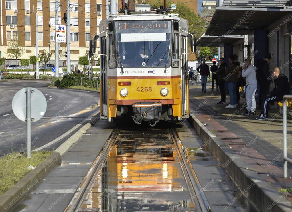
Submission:
{"label": "narrow folding door on the tram's right side, facing the platform", "polygon": [[187,80],[187,36],[181,37],[181,64],[182,64],[182,74],[181,74],[181,92],[182,92],[182,115],[187,115],[187,85],[186,85],[186,80]]}

